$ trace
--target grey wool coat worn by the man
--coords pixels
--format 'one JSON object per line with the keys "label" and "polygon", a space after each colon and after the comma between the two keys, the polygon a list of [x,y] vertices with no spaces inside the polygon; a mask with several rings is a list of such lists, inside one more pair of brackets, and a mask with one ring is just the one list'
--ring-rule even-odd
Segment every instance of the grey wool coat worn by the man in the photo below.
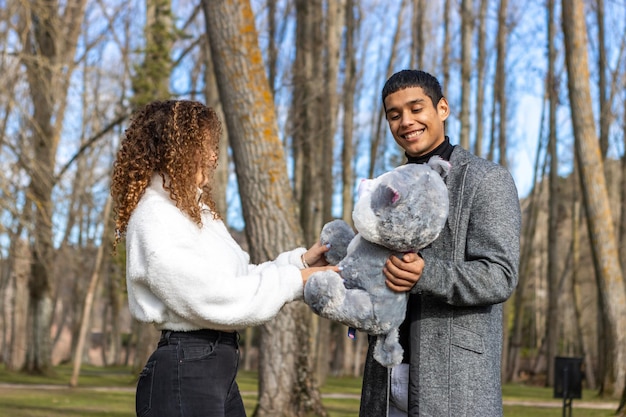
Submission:
{"label": "grey wool coat worn by the man", "polygon": [[[501,303],[517,285],[519,197],[499,165],[458,146],[450,164],[448,221],[420,252],[425,267],[411,294],[409,416],[501,416]],[[389,372],[372,346],[360,417],[387,415]]]}

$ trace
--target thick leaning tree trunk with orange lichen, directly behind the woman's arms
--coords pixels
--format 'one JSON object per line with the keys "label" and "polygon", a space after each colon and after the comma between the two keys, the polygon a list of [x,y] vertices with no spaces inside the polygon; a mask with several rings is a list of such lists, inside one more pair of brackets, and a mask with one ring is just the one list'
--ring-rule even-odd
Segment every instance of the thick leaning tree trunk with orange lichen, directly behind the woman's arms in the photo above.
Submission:
{"label": "thick leaning tree trunk with orange lichen, directly behind the woman's arms", "polygon": [[[297,207],[258,46],[250,3],[203,0],[206,30],[235,161],[252,262],[302,243]],[[261,326],[256,416],[325,415],[307,354],[303,303],[291,303]]]}

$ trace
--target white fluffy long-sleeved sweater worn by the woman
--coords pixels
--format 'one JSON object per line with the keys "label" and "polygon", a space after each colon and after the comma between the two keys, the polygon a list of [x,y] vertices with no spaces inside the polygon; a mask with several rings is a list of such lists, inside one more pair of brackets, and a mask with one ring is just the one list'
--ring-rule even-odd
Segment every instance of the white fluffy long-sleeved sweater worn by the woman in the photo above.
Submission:
{"label": "white fluffy long-sleeved sweater worn by the woman", "polygon": [[168,330],[236,330],[270,320],[303,294],[304,248],[250,265],[208,207],[199,227],[155,176],[130,217],[126,284],[137,320]]}

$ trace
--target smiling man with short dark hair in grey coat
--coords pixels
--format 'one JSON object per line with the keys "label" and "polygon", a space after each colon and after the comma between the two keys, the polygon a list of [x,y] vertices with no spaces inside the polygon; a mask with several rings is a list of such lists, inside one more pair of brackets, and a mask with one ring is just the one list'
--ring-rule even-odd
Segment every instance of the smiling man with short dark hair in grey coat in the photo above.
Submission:
{"label": "smiling man with short dark hair in grey coat", "polygon": [[513,178],[450,144],[450,107],[432,75],[400,71],[382,99],[408,163],[433,155],[450,162],[450,212],[430,247],[387,261],[389,288],[410,292],[400,336],[405,360],[391,371],[380,366],[372,338],[359,415],[501,416],[502,303],[517,285],[521,227]]}

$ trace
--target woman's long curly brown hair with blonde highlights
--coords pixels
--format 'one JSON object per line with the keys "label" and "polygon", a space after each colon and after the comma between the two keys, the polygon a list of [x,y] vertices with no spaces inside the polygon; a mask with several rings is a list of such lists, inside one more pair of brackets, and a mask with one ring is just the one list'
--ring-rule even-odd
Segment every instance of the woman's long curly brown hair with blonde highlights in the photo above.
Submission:
{"label": "woman's long curly brown hair with blonde highlights", "polygon": [[[139,199],[158,173],[163,187],[183,213],[202,225],[205,203],[220,218],[211,196],[222,125],[215,111],[191,100],[154,101],[138,109],[124,132],[113,165],[111,196],[115,203],[117,246]],[[208,184],[198,201],[196,175],[203,167]],[[167,181],[166,181],[167,178]]]}

